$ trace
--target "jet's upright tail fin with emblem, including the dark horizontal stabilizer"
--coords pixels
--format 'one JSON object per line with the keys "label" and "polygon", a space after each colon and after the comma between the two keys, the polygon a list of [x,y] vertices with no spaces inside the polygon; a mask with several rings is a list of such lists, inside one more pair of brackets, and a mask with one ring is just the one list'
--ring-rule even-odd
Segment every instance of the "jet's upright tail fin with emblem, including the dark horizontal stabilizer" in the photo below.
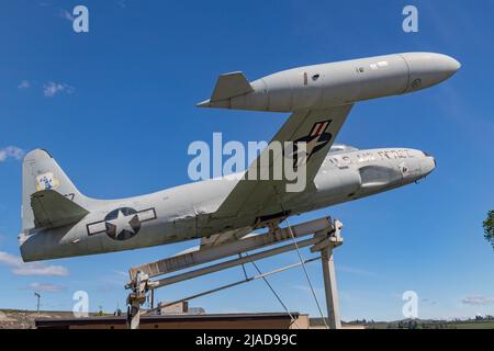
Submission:
{"label": "jet's upright tail fin with emblem, including the dark horizontal stabilizer", "polygon": [[79,220],[87,203],[55,159],[42,149],[22,163],[22,229],[56,227]]}

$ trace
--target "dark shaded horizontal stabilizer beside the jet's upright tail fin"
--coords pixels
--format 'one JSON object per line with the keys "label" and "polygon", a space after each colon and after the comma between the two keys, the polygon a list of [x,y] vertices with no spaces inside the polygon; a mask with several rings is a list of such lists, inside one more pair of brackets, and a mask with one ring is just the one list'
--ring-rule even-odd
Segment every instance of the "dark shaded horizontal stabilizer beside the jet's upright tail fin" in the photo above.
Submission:
{"label": "dark shaded horizontal stabilizer beside the jet's upright tail fin", "polygon": [[42,190],[31,195],[36,228],[56,228],[77,223],[89,212],[55,190]]}

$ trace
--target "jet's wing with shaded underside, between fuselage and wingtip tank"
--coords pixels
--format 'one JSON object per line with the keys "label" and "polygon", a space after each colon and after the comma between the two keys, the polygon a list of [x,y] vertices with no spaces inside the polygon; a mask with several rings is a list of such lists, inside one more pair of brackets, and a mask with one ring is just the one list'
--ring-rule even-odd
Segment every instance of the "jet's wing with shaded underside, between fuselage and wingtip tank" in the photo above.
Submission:
{"label": "jet's wing with shaded underside, between fuselage and wingtip tank", "polygon": [[[341,126],[344,125],[352,104],[341,105],[326,110],[304,110],[294,112],[289,120],[283,124],[280,131],[270,141],[305,141],[306,156],[295,159],[296,163],[305,163],[306,166],[306,182],[305,186],[314,186],[314,178],[317,174],[324,159],[329,151],[329,148],[335,141]],[[278,217],[283,213],[281,203],[290,200],[296,193],[287,191],[287,184],[291,183],[283,177],[282,180],[262,180],[260,174],[273,174],[272,168],[277,163],[277,159],[283,157],[283,152],[272,152],[268,147],[262,150],[258,159],[249,167],[248,172],[256,172],[257,180],[244,179],[239,180],[228,194],[226,200],[220,205],[216,212],[211,214],[211,218],[225,219],[245,215],[260,215],[268,216],[271,214]],[[266,152],[271,152],[273,157],[269,158],[269,163],[259,162]],[[268,155],[269,156],[269,155]],[[260,167],[258,165],[261,165]],[[300,166],[299,166],[300,169]],[[246,173],[246,174],[247,174]],[[265,178],[267,179],[267,178]]]}

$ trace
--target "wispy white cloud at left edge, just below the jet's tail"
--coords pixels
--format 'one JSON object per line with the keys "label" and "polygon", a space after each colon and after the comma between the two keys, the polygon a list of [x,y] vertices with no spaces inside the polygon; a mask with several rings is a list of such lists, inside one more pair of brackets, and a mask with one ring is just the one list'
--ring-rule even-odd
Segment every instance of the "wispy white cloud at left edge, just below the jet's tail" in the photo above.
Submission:
{"label": "wispy white cloud at left edge, just below the jet's tail", "polygon": [[69,272],[61,265],[48,265],[43,262],[24,263],[18,256],[0,251],[0,263],[11,268],[15,275],[44,275],[44,276],[65,276]]}

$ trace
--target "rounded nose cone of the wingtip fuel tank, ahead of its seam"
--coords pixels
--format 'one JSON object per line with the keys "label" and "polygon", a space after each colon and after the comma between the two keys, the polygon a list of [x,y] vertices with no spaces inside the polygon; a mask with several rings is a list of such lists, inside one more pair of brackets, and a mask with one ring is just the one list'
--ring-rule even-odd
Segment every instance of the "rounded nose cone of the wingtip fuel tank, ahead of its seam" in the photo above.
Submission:
{"label": "rounded nose cone of the wingtip fuel tank, ahead of its seam", "polygon": [[407,91],[420,90],[454,75],[461,64],[454,58],[435,53],[406,53],[402,55],[408,65],[409,83]]}

